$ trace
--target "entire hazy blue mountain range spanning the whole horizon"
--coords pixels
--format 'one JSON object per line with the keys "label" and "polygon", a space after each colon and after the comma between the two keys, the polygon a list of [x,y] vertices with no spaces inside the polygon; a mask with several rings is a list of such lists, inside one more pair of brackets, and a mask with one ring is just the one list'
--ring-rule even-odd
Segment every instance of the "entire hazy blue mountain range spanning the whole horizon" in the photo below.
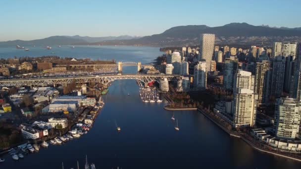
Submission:
{"label": "entire hazy blue mountain range spanning the whole horizon", "polygon": [[224,26],[208,27],[206,25],[177,26],[161,34],[132,37],[80,37],[53,36],[33,41],[0,42],[0,46],[9,45],[149,45],[149,46],[185,46],[198,45],[201,33],[211,33],[216,36],[216,44],[235,45],[265,45],[271,46],[276,41],[299,42],[301,28],[271,28],[267,25],[253,26],[247,23],[230,23]]}

